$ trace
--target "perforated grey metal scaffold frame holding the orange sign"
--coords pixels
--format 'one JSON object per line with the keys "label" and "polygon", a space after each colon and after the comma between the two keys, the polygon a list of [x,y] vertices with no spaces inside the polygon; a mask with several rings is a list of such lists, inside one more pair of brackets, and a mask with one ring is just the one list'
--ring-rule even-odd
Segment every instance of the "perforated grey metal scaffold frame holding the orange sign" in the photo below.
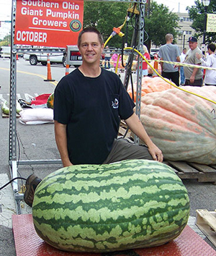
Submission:
{"label": "perforated grey metal scaffold frame holding the orange sign", "polygon": [[[88,1],[88,0],[86,0]],[[129,2],[140,4],[139,25],[138,25],[138,51],[143,53],[143,41],[144,41],[144,11],[146,0],[94,0],[94,1],[114,1],[114,2]],[[9,168],[12,179],[17,178],[17,47],[14,45],[15,34],[15,20],[16,20],[17,0],[12,0],[12,27],[11,27],[11,59],[10,59],[10,92],[9,92]],[[132,53],[133,54],[133,53]],[[142,62],[143,59],[138,56],[138,82],[137,82],[137,99],[136,99],[136,113],[140,116],[140,103],[141,103],[141,88],[142,88]],[[126,74],[125,74],[126,76]],[[135,137],[135,142],[138,143],[138,137]],[[60,159],[53,160],[19,160],[19,165],[30,164],[48,164],[48,163],[61,163]],[[14,191],[14,198],[16,201],[17,214],[21,214],[20,202],[23,199],[23,194],[18,192],[17,179],[12,182],[12,188]]]}

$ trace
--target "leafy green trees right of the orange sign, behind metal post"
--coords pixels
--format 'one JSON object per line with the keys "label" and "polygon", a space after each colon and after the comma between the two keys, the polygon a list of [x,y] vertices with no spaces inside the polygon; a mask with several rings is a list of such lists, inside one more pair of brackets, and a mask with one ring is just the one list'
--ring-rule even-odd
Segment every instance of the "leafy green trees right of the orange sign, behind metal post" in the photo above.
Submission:
{"label": "leafy green trees right of the orange sign, behind metal post", "polygon": [[[127,9],[131,7],[128,3],[112,2],[112,4],[107,2],[95,2],[95,1],[84,1],[84,27],[90,25],[97,27],[99,31],[102,32],[104,40],[109,38],[112,33],[113,27],[119,27],[125,21],[127,16]],[[139,6],[138,6],[139,7]],[[147,11],[148,15],[147,15]],[[131,14],[130,14],[131,15]],[[161,44],[166,43],[165,35],[171,33],[176,37],[176,28],[178,27],[179,17],[170,12],[168,7],[163,4],[157,4],[156,2],[151,2],[150,8],[145,5],[145,14],[143,15],[145,19],[145,44],[150,48],[150,43],[152,42],[156,46],[161,46]],[[147,17],[148,16],[148,17]],[[127,33],[128,27],[128,38],[132,38],[132,34],[135,28],[135,15],[130,18],[129,22],[126,22],[125,26],[122,28],[123,33]],[[130,46],[130,41],[127,42]],[[117,48],[122,47],[122,38],[115,36],[109,40],[109,46],[115,46]]]}

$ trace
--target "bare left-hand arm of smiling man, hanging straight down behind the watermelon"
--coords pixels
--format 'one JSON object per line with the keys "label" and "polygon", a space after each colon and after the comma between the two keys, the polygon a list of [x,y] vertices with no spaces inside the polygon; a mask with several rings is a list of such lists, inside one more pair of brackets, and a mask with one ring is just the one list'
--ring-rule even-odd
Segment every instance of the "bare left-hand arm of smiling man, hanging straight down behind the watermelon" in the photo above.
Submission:
{"label": "bare left-hand arm of smiling man, hanging straight down behind the watermelon", "polygon": [[55,142],[60,153],[60,158],[63,166],[72,166],[68,155],[68,144],[66,134],[66,124],[60,124],[58,121],[54,121],[55,125]]}

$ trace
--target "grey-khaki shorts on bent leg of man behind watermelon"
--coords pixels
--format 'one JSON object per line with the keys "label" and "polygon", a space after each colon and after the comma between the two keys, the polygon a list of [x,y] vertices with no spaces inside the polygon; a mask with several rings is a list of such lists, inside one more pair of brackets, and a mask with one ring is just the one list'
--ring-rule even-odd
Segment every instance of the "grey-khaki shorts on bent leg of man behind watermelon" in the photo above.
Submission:
{"label": "grey-khaki shorts on bent leg of man behind watermelon", "polygon": [[104,163],[114,163],[126,159],[148,159],[153,160],[145,145],[136,145],[127,139],[115,139],[112,150]]}

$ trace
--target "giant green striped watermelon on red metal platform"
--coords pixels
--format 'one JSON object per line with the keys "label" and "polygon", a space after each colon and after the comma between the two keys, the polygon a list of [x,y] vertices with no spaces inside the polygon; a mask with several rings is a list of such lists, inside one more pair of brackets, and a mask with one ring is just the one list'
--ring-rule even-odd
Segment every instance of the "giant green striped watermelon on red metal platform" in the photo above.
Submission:
{"label": "giant green striped watermelon on red metal platform", "polygon": [[37,234],[55,248],[110,252],[165,244],[189,218],[181,179],[163,163],[126,160],[61,168],[38,185]]}

